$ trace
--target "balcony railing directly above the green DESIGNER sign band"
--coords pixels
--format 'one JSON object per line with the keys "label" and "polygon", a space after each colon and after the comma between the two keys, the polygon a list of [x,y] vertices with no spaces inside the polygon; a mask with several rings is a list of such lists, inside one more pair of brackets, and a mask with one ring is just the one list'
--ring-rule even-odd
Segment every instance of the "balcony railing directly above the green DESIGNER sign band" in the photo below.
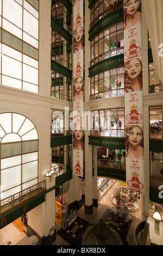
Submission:
{"label": "balcony railing directly above the green DESIGNER sign band", "polygon": [[108,131],[92,130],[91,136],[102,136],[102,137],[125,137],[124,129],[110,129]]}

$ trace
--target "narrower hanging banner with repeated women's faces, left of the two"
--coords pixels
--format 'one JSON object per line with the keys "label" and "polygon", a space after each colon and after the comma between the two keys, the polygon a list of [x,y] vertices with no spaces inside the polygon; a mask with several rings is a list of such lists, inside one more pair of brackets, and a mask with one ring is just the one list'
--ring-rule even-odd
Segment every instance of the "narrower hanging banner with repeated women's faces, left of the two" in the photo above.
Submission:
{"label": "narrower hanging banner with repeated women's faces, left of the two", "polygon": [[73,173],[83,177],[83,0],[73,1]]}

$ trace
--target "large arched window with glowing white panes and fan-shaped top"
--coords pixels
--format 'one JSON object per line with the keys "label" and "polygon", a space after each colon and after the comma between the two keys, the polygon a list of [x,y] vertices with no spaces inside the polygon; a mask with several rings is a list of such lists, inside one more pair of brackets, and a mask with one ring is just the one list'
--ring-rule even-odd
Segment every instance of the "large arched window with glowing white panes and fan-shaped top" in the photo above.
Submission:
{"label": "large arched window with glowing white panes and fan-shaped top", "polygon": [[38,134],[24,115],[0,114],[1,200],[38,182]]}

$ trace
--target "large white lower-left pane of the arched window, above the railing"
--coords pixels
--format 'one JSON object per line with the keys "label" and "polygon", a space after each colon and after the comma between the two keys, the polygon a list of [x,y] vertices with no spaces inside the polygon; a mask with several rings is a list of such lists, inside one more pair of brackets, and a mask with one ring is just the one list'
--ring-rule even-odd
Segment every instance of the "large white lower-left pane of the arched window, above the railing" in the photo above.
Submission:
{"label": "large white lower-left pane of the arched window, above the railing", "polygon": [[1,186],[3,190],[18,186],[21,184],[21,166],[1,170]]}

